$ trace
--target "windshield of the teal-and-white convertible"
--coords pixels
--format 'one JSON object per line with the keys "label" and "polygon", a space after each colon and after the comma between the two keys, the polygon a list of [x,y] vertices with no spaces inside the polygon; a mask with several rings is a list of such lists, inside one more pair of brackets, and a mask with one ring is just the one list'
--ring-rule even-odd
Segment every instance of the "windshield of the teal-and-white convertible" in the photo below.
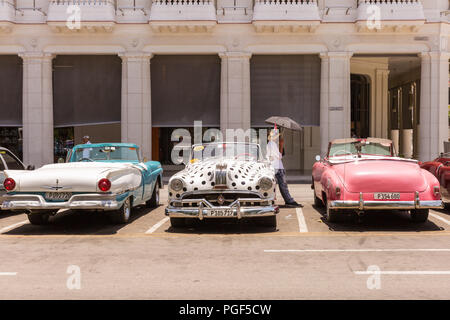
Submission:
{"label": "windshield of the teal-and-white convertible", "polygon": [[71,162],[122,160],[139,161],[137,149],[133,147],[80,147],[71,158]]}

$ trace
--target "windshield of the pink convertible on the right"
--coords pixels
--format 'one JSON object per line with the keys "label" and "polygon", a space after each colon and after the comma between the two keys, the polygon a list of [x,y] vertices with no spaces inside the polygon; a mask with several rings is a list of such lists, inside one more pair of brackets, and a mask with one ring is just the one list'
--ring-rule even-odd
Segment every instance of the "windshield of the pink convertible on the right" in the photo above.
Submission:
{"label": "windshield of the pink convertible on the right", "polygon": [[358,152],[362,155],[392,156],[391,145],[369,141],[332,144],[328,155],[329,157],[338,157],[357,155]]}

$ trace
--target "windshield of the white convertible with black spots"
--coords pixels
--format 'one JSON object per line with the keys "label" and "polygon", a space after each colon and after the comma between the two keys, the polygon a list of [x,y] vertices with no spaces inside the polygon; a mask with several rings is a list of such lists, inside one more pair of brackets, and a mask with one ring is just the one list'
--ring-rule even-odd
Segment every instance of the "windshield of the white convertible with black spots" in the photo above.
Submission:
{"label": "windshield of the white convertible with black spots", "polygon": [[261,159],[261,155],[257,144],[212,143],[192,146],[191,163],[211,158],[259,161]]}

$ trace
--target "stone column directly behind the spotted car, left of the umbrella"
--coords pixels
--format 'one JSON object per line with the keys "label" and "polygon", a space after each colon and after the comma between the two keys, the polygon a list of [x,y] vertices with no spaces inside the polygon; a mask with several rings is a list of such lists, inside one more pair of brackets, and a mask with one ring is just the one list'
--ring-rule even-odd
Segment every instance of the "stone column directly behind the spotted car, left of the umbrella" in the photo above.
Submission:
{"label": "stone column directly behind the spotted car, left of the umbrella", "polygon": [[220,129],[250,128],[250,58],[247,52],[225,52],[220,89]]}

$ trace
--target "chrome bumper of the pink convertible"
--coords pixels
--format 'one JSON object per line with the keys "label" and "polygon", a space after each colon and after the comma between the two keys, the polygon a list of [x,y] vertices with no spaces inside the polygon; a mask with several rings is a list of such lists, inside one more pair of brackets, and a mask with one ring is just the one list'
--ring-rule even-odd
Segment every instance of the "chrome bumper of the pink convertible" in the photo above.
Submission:
{"label": "chrome bumper of the pink convertible", "polygon": [[359,201],[335,200],[330,202],[330,209],[351,209],[351,210],[413,210],[413,209],[442,209],[442,200],[420,201],[419,194],[416,193],[414,201],[364,201],[360,193]]}

